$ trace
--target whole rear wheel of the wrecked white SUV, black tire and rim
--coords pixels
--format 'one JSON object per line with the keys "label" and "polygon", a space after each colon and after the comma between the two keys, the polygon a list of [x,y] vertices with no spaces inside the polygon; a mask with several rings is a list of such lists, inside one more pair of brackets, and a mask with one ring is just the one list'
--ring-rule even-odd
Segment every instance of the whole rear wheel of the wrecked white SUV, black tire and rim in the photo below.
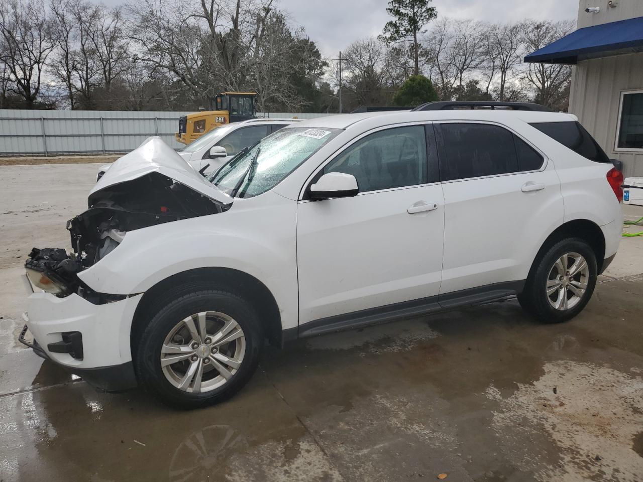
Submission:
{"label": "whole rear wheel of the wrecked white SUV, black tire and rim", "polygon": [[562,323],[590,301],[596,277],[592,247],[580,238],[566,238],[539,255],[518,302],[542,323]]}

